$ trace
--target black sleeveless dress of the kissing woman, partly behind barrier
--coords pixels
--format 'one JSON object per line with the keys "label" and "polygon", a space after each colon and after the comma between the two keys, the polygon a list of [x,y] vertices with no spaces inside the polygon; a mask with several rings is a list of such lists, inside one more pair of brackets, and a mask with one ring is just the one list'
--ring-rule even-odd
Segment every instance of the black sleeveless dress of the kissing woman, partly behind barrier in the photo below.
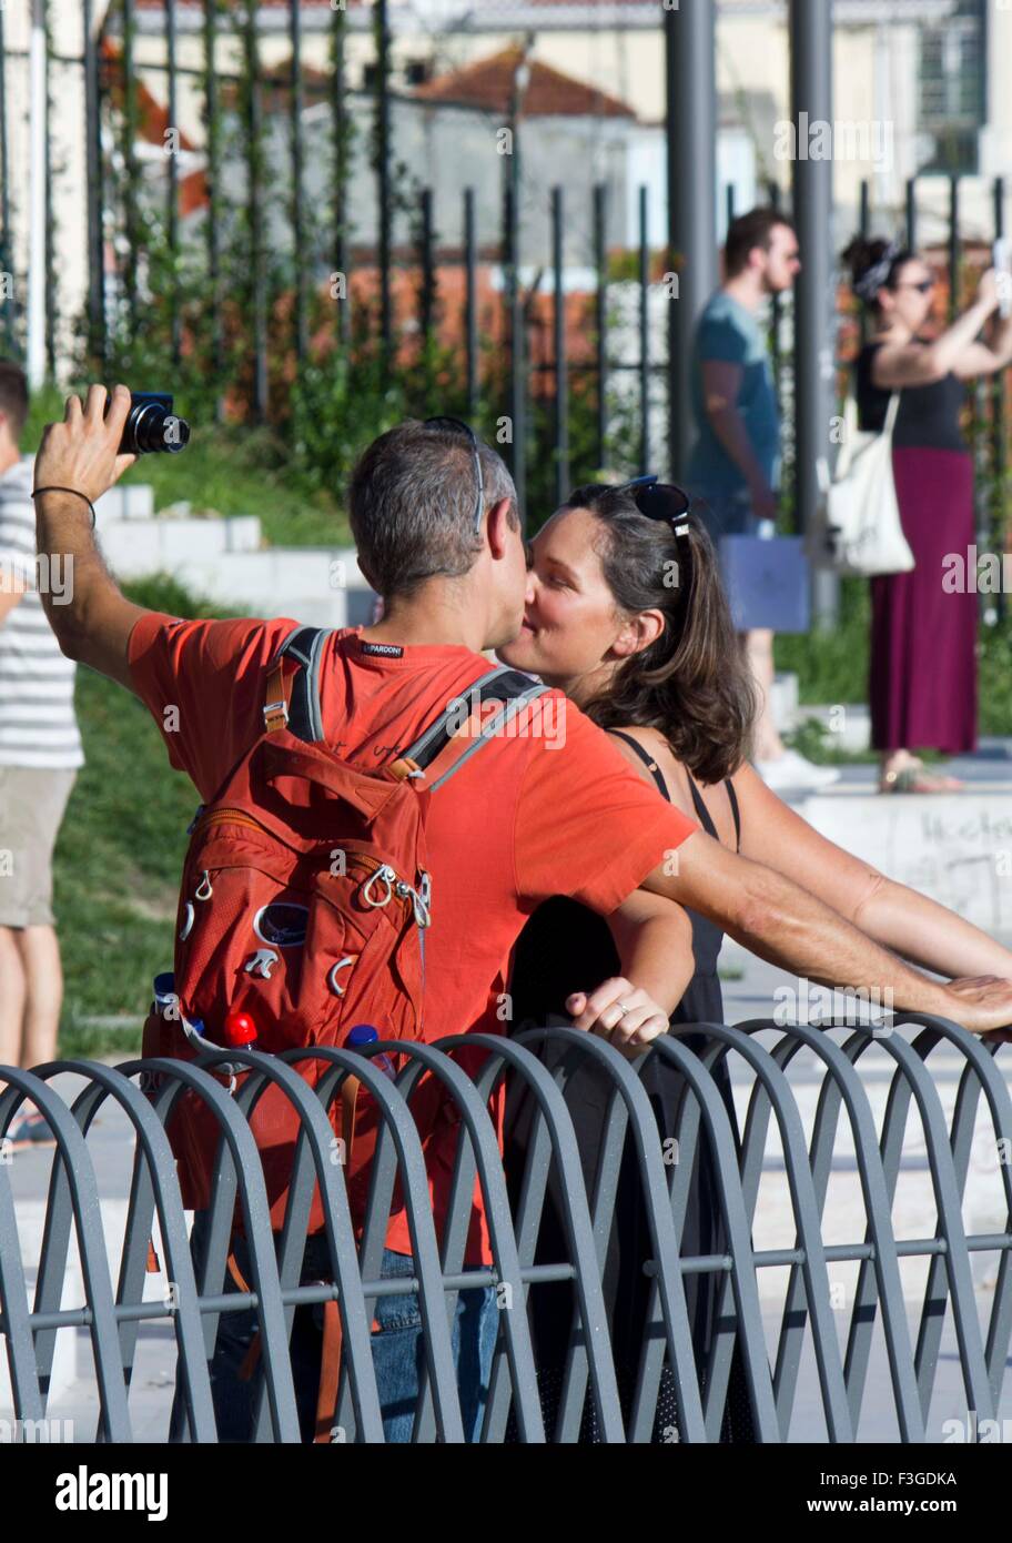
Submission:
{"label": "black sleeveless dress of the kissing woman, partly behind barrier", "polygon": [[[649,753],[629,734],[622,734],[620,738],[631,744],[636,753],[646,762],[660,793],[663,798],[668,798],[663,776]],[[700,826],[708,835],[716,838],[717,833],[710,812],[691,778],[690,787]],[[730,781],[725,782],[725,787],[734,816],[737,846],[740,846],[737,799]],[[690,920],[693,924],[696,972],[679,1006],[671,1014],[671,1025],[722,1023],[724,1001],[717,977],[717,955],[720,954],[724,934],[714,923],[707,921],[705,917],[699,917],[694,912],[690,912]],[[512,1032],[520,1032],[523,1028],[531,1028],[532,1025],[569,1025],[572,1018],[565,1009],[566,997],[572,991],[592,991],[602,980],[620,974],[619,954],[603,917],[599,917],[579,901],[569,900],[565,895],[555,895],[538,906],[517,940],[511,977]],[[682,1037],[682,1043],[693,1051],[702,1051],[705,1037],[702,1034],[688,1034]],[[566,1054],[565,1049],[543,1046],[540,1058],[549,1069],[554,1069],[565,1060]],[[734,1139],[740,1142],[727,1060],[719,1063],[716,1082],[731,1119]],[[683,1079],[671,1066],[665,1065],[660,1057],[651,1057],[643,1068],[642,1085],[657,1119],[660,1137],[673,1136],[674,1111],[683,1088]],[[609,1091],[611,1082],[586,1065],[580,1065],[566,1083],[566,1105],[575,1126],[588,1194],[591,1193],[597,1171]],[[520,1085],[514,1085],[506,1103],[504,1128],[506,1171],[514,1200],[520,1194],[534,1113],[534,1099]],[[693,1154],[693,1180],[682,1233],[682,1253],[725,1253],[727,1239],[719,1221],[720,1210],[716,1199],[716,1180],[707,1142],[702,1142],[699,1151]],[[552,1167],[535,1262],[557,1264],[568,1258],[566,1231],[562,1217],[558,1177]],[[640,1196],[639,1165],[629,1145],[622,1160],[616,1221],[608,1242],[603,1275],[605,1301],[611,1315],[616,1372],[626,1418],[636,1386],[649,1299],[649,1278],[643,1273],[643,1264],[651,1258],[653,1245]],[[717,1276],[686,1276],[685,1295],[697,1366],[703,1369],[713,1338]],[[531,1287],[529,1312],[537,1345],[538,1387],[549,1441],[562,1395],[572,1310],[574,1291],[569,1282],[549,1282]],[[653,1440],[657,1443],[665,1441],[665,1427],[673,1424],[677,1424],[674,1378],[665,1366]],[[592,1400],[588,1396],[580,1441],[597,1440],[597,1418]],[[744,1369],[737,1350],[731,1362],[720,1440],[731,1443],[750,1443],[756,1440]]]}

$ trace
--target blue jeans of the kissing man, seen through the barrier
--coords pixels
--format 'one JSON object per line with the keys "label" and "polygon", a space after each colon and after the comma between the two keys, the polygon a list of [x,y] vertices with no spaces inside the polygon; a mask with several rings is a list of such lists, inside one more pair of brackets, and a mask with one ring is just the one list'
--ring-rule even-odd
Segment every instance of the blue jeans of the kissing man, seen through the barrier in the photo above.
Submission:
{"label": "blue jeans of the kissing man, seen through the barrier", "polygon": [[[244,1237],[233,1237],[236,1264],[242,1276],[250,1279],[250,1256]],[[190,1250],[194,1271],[204,1261],[207,1245],[207,1211],[194,1211]],[[380,1275],[412,1276],[415,1262],[410,1254],[383,1251]],[[302,1281],[319,1281],[330,1275],[330,1261],[324,1237],[307,1241],[302,1262]],[[239,1287],[225,1271],[225,1295]],[[380,1296],[375,1304],[375,1321],[380,1325],[372,1335],[373,1367],[383,1413],[383,1433],[387,1441],[410,1441],[415,1404],[418,1401],[420,1372],[424,1366],[424,1342],[418,1293]],[[247,1308],[238,1313],[222,1313],[218,1325],[218,1342],[210,1362],[211,1398],[219,1441],[251,1441],[256,1390],[259,1378],[242,1381],[238,1373],[258,1329],[256,1312]],[[292,1375],[304,1441],[313,1441],[316,1430],[316,1398],[319,1390],[322,1307],[296,1307],[292,1325]],[[452,1349],[460,1392],[460,1410],[464,1438],[477,1441],[481,1433],[484,1401],[492,1375],[492,1358],[498,1336],[498,1310],[495,1290],[487,1285],[480,1290],[461,1291],[457,1298]],[[179,1440],[182,1420],[182,1392],[179,1379],[173,1400],[170,1441]]]}

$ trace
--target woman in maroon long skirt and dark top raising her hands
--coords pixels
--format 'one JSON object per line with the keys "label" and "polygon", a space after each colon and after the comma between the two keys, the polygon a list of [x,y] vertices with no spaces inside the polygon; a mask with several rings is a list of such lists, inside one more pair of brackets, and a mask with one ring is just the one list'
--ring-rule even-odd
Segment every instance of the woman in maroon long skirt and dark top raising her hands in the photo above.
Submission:
{"label": "woman in maroon long skirt and dark top raising her hands", "polygon": [[882,759],[879,788],[943,793],[961,784],[929,776],[913,750],[960,755],[977,747],[977,594],[970,583],[953,588],[950,580],[952,554],[966,574],[975,542],[973,458],[960,429],[963,381],[1012,361],[1012,319],[998,322],[993,315],[1000,281],[992,270],[969,310],[939,336],[926,338],[935,278],[916,253],[858,239],[844,258],[855,293],[875,318],[856,364],[859,426],[881,429],[890,395],[899,392],[893,474],[915,559],[910,572],[872,579],[872,745]]}

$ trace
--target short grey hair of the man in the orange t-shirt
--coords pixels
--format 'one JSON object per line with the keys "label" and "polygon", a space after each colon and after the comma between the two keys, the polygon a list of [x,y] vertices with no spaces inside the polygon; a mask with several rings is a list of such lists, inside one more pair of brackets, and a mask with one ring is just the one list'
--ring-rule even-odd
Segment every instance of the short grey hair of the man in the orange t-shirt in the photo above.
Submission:
{"label": "short grey hair of the man in the orange t-shirt", "polygon": [[[503,458],[481,440],[484,511],[517,489]],[[384,600],[410,596],[427,579],[461,579],[474,566],[478,488],[474,447],[461,430],[409,418],[380,435],[352,474],[349,517],[363,572]]]}

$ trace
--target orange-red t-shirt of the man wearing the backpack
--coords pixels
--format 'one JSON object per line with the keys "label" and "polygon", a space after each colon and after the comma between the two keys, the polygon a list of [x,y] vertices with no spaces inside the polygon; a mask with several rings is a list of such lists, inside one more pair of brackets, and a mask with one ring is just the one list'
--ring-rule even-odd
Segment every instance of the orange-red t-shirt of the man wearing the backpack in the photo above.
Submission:
{"label": "orange-red t-shirt of the man wearing the backpack", "polygon": [[[133,687],[162,728],[171,764],[188,773],[205,804],[262,733],[267,667],[296,626],[290,619],[180,622],[150,611],[133,628]],[[404,645],[395,653],[384,645],[380,653],[361,626],[332,633],[319,671],[324,738],[352,765],[381,765],[487,668],[486,659],[457,645]],[[427,1040],[503,1032],[509,955],[534,907],[566,893],[603,915],[616,912],[663,853],[696,829],[651,793],[608,736],[560,691],[540,697],[538,705],[535,725],[518,719],[518,733],[494,736],[432,795]],[[176,708],[171,714],[170,707]],[[551,728],[551,736],[525,734],[531,727]],[[662,900],[654,906],[671,909]],[[671,941],[680,941],[677,915]],[[668,967],[677,988],[677,967]],[[440,1230],[455,1131],[449,1128],[444,1137],[429,1150]],[[475,1197],[466,1259],[486,1264],[492,1254],[480,1191]],[[410,1253],[404,1213],[387,1242]]]}

